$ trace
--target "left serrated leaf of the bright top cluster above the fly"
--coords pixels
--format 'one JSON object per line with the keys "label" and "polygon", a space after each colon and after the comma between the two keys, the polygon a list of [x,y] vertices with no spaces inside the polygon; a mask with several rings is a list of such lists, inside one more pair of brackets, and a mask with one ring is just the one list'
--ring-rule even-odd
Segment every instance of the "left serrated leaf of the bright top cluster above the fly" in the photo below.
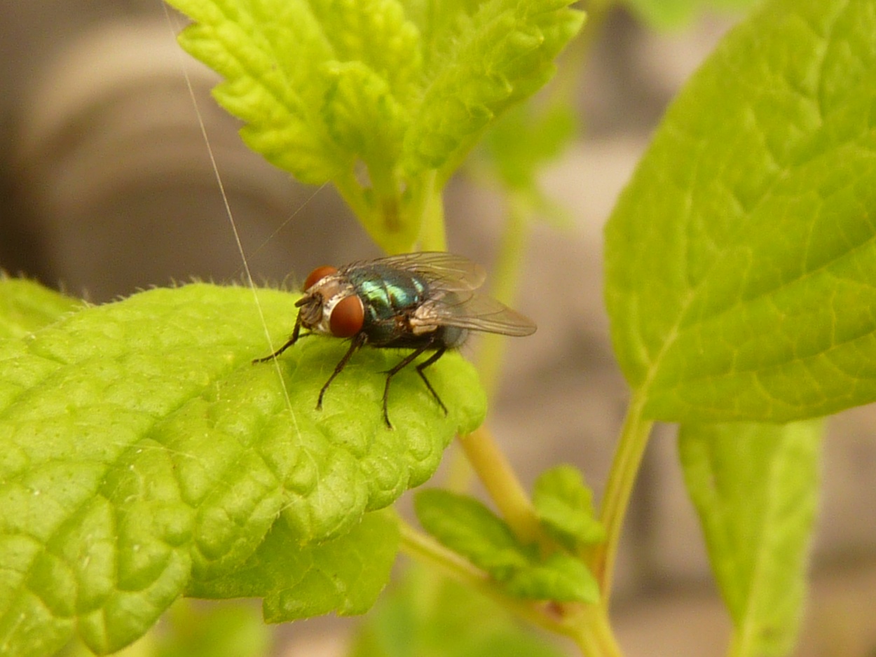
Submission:
{"label": "left serrated leaf of the bright top cluster above the fly", "polygon": [[302,182],[320,185],[352,166],[321,124],[333,59],[328,36],[306,3],[283,0],[171,0],[195,23],[180,46],[221,74],[217,102],[246,125],[253,151]]}

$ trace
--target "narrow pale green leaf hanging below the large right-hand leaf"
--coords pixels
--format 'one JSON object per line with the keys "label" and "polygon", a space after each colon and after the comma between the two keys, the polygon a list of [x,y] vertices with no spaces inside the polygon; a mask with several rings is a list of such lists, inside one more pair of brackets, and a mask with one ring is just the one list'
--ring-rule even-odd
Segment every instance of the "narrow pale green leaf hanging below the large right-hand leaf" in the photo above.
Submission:
{"label": "narrow pale green leaf hanging below the large right-hand leaf", "polygon": [[790,653],[818,503],[822,422],[682,425],[684,478],[734,625],[731,653]]}

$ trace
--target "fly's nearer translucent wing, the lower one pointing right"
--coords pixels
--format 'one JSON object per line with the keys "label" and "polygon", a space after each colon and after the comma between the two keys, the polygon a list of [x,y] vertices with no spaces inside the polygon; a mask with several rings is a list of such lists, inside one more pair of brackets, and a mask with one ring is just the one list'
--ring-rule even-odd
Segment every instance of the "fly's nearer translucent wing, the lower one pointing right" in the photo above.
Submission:
{"label": "fly's nearer translucent wing, the lower one pointing right", "polygon": [[450,293],[441,299],[427,301],[418,323],[514,337],[531,336],[536,329],[535,322],[526,315],[477,293]]}

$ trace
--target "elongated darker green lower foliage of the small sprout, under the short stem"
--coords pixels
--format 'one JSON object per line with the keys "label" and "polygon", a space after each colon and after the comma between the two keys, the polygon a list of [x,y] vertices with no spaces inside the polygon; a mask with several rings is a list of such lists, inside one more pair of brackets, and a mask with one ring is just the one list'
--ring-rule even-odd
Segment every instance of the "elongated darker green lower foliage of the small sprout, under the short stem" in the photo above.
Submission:
{"label": "elongated darker green lower foliage of the small sprout, under the short stem", "polygon": [[451,550],[484,569],[512,595],[544,600],[596,602],[590,571],[564,552],[542,556],[523,545],[505,521],[475,498],[449,491],[418,491],[420,524]]}

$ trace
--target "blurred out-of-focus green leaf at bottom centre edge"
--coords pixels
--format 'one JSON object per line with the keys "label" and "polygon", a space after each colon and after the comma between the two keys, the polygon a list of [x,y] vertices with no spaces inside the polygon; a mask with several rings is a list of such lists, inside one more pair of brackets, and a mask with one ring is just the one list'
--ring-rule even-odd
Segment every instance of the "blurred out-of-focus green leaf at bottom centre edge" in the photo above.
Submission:
{"label": "blurred out-of-focus green leaf at bottom centre edge", "polygon": [[350,657],[561,657],[488,597],[416,565],[364,619]]}

